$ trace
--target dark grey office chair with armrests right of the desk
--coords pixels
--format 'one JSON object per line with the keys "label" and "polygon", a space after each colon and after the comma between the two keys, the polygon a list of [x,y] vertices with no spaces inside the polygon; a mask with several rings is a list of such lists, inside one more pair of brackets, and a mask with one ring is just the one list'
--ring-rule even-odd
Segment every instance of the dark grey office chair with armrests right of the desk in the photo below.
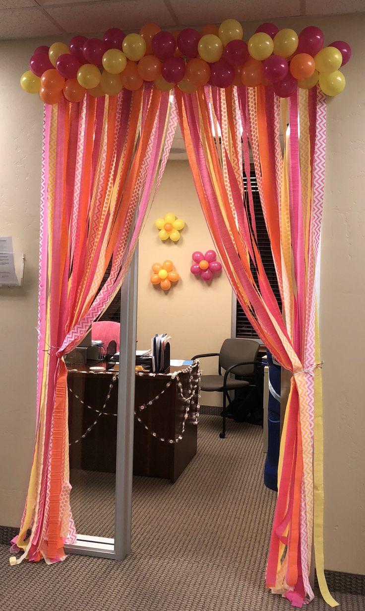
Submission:
{"label": "dark grey office chair with armrests right of the desk", "polygon": [[[218,356],[218,375],[201,376],[200,389],[206,392],[222,392],[223,393],[223,411],[222,411],[222,433],[219,433],[221,439],[226,436],[226,415],[228,399],[228,407],[231,403],[229,390],[236,390],[245,386],[255,386],[255,365],[256,357],[259,351],[259,343],[255,340],[233,338],[224,340],[219,353],[195,354],[192,360],[202,359],[207,356]],[[225,370],[224,376],[222,369]],[[230,374],[240,376],[244,379],[231,378]]]}

